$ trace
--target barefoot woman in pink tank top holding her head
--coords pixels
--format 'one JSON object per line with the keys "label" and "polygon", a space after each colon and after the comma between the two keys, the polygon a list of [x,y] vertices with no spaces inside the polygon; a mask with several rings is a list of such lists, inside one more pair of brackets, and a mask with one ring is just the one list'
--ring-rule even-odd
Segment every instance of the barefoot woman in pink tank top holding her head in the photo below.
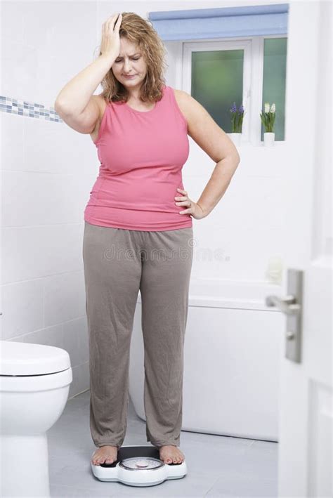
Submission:
{"label": "barefoot woman in pink tank top holding her head", "polygon": [[[233,142],[204,107],[164,84],[164,53],[148,21],[135,13],[112,15],[103,24],[98,59],[55,101],[69,126],[90,133],[100,159],[84,211],[83,242],[96,465],[117,459],[126,433],[139,289],[147,440],[166,464],[185,459],[178,445],[192,218],[209,214],[240,162]],[[103,93],[92,95],[98,84]],[[182,183],[188,134],[217,162],[198,202]]]}

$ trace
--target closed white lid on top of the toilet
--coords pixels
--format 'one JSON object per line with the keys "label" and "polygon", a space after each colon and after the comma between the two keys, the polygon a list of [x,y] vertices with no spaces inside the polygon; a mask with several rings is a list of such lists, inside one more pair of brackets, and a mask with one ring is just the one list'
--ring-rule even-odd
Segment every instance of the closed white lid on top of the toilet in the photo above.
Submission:
{"label": "closed white lid on top of the toilet", "polygon": [[55,374],[70,368],[65,349],[43,344],[0,341],[0,375]]}

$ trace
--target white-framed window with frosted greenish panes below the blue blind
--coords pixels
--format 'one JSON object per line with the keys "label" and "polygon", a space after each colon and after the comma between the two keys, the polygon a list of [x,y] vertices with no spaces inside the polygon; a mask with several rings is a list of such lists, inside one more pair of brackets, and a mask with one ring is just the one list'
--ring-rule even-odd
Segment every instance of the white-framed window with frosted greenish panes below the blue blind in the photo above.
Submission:
{"label": "white-framed window with frosted greenish panes below the blue blind", "polygon": [[260,143],[264,103],[275,103],[275,141],[285,140],[287,37],[183,43],[183,86],[230,133],[230,107],[244,105],[242,143]]}

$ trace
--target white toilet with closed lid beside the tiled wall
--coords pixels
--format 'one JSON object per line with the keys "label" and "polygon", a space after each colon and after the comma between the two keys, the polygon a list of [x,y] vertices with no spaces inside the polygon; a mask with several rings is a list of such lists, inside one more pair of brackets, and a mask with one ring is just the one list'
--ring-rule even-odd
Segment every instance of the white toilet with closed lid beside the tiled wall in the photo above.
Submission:
{"label": "white toilet with closed lid beside the tiled wall", "polygon": [[49,497],[46,431],[65,408],[70,355],[55,346],[0,341],[1,497]]}

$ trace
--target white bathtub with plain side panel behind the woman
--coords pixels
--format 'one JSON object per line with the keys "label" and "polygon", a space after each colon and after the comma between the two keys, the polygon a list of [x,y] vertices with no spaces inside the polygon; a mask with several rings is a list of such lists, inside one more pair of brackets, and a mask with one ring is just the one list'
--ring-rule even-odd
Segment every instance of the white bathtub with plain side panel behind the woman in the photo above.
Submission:
{"label": "white bathtub with plain side panel behind the woman", "polygon": [[[182,431],[278,441],[280,361],[285,317],[268,308],[266,282],[191,280],[184,345]],[[131,339],[129,395],[143,405],[141,295]]]}

